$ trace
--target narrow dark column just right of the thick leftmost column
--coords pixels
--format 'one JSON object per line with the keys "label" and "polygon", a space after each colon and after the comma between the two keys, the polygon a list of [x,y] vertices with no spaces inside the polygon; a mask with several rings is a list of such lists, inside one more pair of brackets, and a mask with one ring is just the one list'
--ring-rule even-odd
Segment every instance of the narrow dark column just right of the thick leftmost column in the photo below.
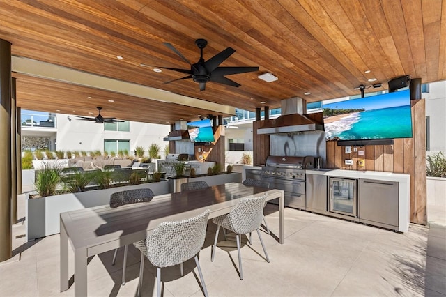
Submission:
{"label": "narrow dark column just right of the thick leftmost column", "polygon": [[17,107],[15,78],[11,80],[11,224],[17,222]]}

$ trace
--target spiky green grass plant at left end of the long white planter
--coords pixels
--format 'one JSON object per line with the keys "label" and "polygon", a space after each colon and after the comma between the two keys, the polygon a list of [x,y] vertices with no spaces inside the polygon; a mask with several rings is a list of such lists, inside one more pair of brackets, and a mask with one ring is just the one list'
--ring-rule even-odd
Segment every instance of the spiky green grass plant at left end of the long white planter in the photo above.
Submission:
{"label": "spiky green grass plant at left end of the long white planter", "polygon": [[62,167],[56,163],[44,163],[43,169],[36,174],[36,191],[42,197],[52,196],[56,193],[56,187],[61,181]]}

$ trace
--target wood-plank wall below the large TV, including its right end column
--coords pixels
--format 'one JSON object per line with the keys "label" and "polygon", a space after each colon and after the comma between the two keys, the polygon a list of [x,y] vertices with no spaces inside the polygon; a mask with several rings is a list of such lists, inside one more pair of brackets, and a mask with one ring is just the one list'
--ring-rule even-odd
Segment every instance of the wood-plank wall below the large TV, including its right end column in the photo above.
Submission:
{"label": "wood-plank wall below the large TV, including its right end column", "polygon": [[[374,170],[410,174],[410,222],[426,224],[426,121],[425,100],[413,100],[413,138],[394,139],[393,145],[360,146],[359,153],[344,153],[344,146],[327,142],[328,168]],[[357,160],[364,158],[365,166],[357,166]],[[352,167],[346,167],[345,160],[353,159]]]}

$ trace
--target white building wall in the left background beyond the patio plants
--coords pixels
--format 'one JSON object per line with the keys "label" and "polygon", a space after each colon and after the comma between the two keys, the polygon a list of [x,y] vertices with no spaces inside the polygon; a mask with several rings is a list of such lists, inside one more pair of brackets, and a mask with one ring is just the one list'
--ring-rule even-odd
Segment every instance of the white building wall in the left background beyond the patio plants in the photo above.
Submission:
{"label": "white building wall in the left background beyond the patio plants", "polygon": [[92,121],[79,121],[76,116],[57,114],[58,151],[104,151],[104,139],[130,140],[130,155],[134,148],[143,146],[148,156],[148,146],[155,143],[160,146],[160,155],[164,158],[164,147],[169,142],[163,138],[169,134],[169,125],[130,122],[130,132],[104,131],[104,125]]}

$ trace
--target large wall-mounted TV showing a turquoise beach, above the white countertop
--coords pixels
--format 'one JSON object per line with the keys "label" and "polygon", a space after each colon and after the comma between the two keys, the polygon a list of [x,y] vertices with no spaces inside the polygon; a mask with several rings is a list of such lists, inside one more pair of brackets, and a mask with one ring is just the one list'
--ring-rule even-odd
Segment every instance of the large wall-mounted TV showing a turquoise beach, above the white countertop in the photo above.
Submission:
{"label": "large wall-mounted TV showing a turquoise beach, above the white countertop", "polygon": [[327,140],[412,137],[410,90],[323,105]]}

